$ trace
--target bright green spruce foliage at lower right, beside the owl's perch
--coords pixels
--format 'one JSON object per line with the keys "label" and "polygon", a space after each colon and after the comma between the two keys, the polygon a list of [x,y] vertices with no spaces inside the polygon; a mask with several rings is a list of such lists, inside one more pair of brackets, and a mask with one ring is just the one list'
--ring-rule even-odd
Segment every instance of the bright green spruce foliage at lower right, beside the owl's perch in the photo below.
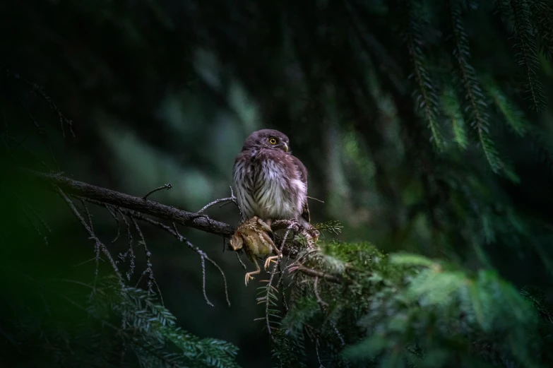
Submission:
{"label": "bright green spruce foliage at lower right, beside the owl's perch", "polygon": [[330,367],[553,362],[552,310],[543,295],[530,287],[519,292],[494,271],[467,272],[415,254],[388,256],[366,242],[325,244],[304,265],[340,275],[341,282],[321,280],[316,291],[312,279],[295,274],[290,311],[274,335],[281,367],[290,362],[290,347],[303,347],[308,336],[320,345],[319,364]]}

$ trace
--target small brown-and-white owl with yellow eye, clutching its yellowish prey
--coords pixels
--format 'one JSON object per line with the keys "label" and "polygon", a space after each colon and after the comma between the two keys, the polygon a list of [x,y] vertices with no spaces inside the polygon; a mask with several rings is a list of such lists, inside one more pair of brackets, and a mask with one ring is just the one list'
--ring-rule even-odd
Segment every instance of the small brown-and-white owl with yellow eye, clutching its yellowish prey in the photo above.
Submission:
{"label": "small brown-and-white owl with yellow eye, clutching its yellowish prey", "polygon": [[[248,238],[244,235],[243,241],[240,238],[241,234],[251,234],[254,228],[258,233],[267,232],[275,220],[297,220],[301,227],[311,229],[307,206],[307,169],[290,153],[285,134],[273,129],[251,133],[242,146],[242,152],[234,160],[232,177],[244,220],[231,239],[233,248],[254,244],[249,246],[254,249],[250,253],[258,256],[275,250],[274,244],[268,247],[265,237]],[[248,221],[254,217],[255,220]],[[263,244],[257,247],[255,239],[263,239]],[[263,252],[259,254],[256,249],[261,248]],[[278,256],[269,257],[265,268]],[[260,272],[256,259],[252,261],[256,263],[257,270],[246,273],[246,285],[249,278],[253,279],[251,275]]]}

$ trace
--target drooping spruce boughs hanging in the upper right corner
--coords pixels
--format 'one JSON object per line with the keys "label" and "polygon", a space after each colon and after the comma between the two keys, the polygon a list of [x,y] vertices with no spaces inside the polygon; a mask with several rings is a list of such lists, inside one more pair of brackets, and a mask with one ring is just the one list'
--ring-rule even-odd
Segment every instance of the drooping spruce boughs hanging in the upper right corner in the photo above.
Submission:
{"label": "drooping spruce boughs hanging in the upper right corner", "polygon": [[[496,72],[482,63],[482,54],[487,51],[477,44],[475,22],[493,24],[496,14],[504,20],[509,34],[496,30],[504,36],[504,40],[496,42],[514,41],[511,53],[519,73],[513,71],[511,86],[516,86],[514,90],[521,89],[528,106],[540,112],[546,106],[541,81],[544,64],[540,58],[547,58],[551,53],[553,37],[549,35],[552,31],[546,25],[553,24],[553,4],[525,0],[494,3],[405,0],[388,10],[399,15],[400,37],[405,45],[405,56],[410,60],[409,78],[414,81],[415,109],[426,122],[436,150],[444,150],[451,131],[453,141],[460,148],[466,149],[469,143],[476,143],[494,173],[518,182],[509,159],[498,149],[496,124],[495,121],[492,124],[490,114],[499,107],[504,114],[501,119],[523,137],[523,121],[517,112],[521,108],[517,107],[516,99],[506,94],[506,88],[497,87]],[[471,44],[476,46],[471,47]],[[451,61],[444,59],[444,52],[451,52]],[[474,57],[475,53],[480,58]],[[517,77],[518,74],[521,76]],[[483,79],[489,88],[483,87],[481,76],[485,76]],[[510,90],[512,92],[513,88]],[[438,97],[440,95],[442,98]],[[470,127],[468,135],[465,135],[463,121]],[[448,131],[444,129],[446,126],[450,128]]]}

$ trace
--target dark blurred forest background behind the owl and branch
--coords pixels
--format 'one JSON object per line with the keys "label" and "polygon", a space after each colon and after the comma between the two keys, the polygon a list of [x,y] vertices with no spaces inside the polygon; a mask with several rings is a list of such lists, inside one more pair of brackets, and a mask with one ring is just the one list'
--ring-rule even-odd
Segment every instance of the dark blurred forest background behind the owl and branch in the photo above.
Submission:
{"label": "dark blurred forest background behind the owl and branch", "polygon": [[[553,300],[550,1],[5,1],[0,55],[4,167],[133,196],[171,183],[151,199],[194,212],[230,196],[249,133],[278,129],[324,201],[309,203],[312,222],[343,225],[327,241],[493,269]],[[18,316],[14,295],[42,289],[22,274],[90,283],[95,249],[59,197],[4,184],[0,309]],[[90,210],[97,235],[124,251],[124,225],[111,244],[117,223]],[[239,222],[233,205],[207,213]],[[209,307],[197,254],[143,232],[177,325],[236,345],[242,367],[273,364],[254,321],[260,283],[244,287],[221,237],[182,228],[225,272],[231,307],[215,268]],[[3,330],[8,357],[17,343]]]}

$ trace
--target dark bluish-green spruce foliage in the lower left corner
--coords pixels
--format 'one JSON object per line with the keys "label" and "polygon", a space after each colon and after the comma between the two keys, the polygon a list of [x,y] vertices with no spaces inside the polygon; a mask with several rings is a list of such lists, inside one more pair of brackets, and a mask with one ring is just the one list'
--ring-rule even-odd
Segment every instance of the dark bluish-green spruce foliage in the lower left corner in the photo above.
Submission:
{"label": "dark bluish-green spruce foliage in the lower left corner", "polygon": [[[68,291],[64,283],[76,287]],[[8,321],[2,325],[4,339],[0,340],[4,364],[238,367],[234,361],[237,349],[232,344],[183,331],[155,295],[134,287],[121,288],[115,275],[99,279],[95,285],[44,281],[33,285],[30,292],[19,290],[18,294],[2,306],[3,321]],[[25,361],[23,352],[28,352]]]}

